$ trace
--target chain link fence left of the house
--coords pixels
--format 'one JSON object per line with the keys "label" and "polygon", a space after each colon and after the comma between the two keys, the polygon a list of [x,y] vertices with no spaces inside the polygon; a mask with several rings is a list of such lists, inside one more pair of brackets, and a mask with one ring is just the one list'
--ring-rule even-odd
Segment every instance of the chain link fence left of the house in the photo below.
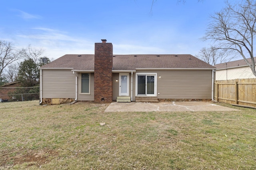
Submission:
{"label": "chain link fence left of the house", "polygon": [[0,102],[23,102],[39,100],[37,87],[0,87]]}

